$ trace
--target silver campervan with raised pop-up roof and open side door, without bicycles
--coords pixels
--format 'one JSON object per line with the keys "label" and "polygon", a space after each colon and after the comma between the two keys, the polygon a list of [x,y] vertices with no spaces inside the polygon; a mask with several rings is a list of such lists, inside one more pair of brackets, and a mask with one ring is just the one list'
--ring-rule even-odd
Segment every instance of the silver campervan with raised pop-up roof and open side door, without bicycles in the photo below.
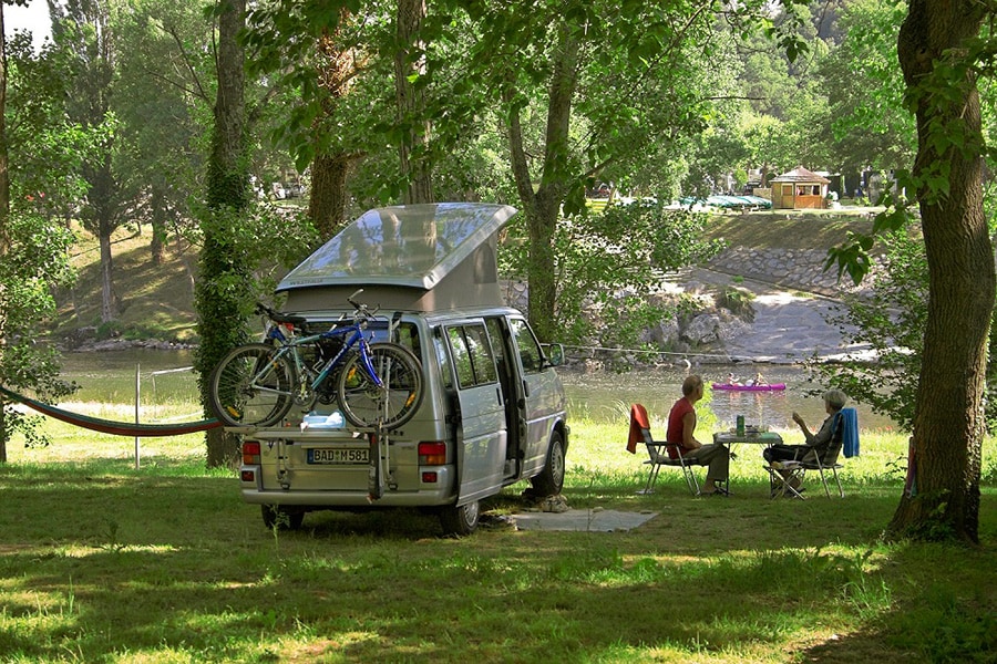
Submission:
{"label": "silver campervan with raised pop-up roof and open side door, without bicycles", "polygon": [[323,509],[434,508],[467,535],[479,504],[528,479],[541,495],[564,484],[568,427],[544,346],[504,305],[497,232],[515,209],[435,204],[373,209],[285,277],[286,312],[312,330],[378,308],[368,333],[410,349],[424,374],[415,415],[390,432],[351,427],[336,403],[295,408],[282,426],[239,430],[243,498],[267,526],[301,526]]}

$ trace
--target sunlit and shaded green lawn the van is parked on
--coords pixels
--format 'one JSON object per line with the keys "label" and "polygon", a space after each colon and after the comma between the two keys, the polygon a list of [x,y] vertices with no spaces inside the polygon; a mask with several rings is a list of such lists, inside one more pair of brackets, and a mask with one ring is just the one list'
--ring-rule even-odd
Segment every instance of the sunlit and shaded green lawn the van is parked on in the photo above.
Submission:
{"label": "sunlit and shaded green lawn the van is parked on", "polygon": [[[268,531],[230,473],[203,469],[201,436],[143,439],[135,470],[132,439],[61,426],[0,467],[0,662],[995,661],[995,488],[981,548],[881,543],[897,435],[863,433],[843,500],[812,484],[770,500],[743,448],[730,498],[667,470],[638,496],[625,423],[576,421],[568,504],[656,518],[613,533],[490,518],[446,539],[414,510]],[[521,509],[523,488],[486,516]]]}

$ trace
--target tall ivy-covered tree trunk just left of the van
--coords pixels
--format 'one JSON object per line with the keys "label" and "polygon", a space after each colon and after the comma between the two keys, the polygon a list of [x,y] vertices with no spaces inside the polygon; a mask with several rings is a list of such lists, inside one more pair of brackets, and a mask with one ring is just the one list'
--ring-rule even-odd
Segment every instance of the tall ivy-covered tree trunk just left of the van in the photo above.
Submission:
{"label": "tall ivy-covered tree trunk just left of the van", "polygon": [[[246,0],[228,0],[223,8],[218,17],[218,93],[207,176],[210,212],[202,224],[204,246],[195,289],[201,334],[197,370],[206,412],[212,370],[228,350],[246,341],[246,314],[240,303],[246,292],[232,284],[249,280],[248,267],[234,255],[227,239],[234,218],[248,206],[250,191],[244,136],[245,56],[237,39],[245,23]],[[239,445],[236,436],[220,428],[209,429],[206,446],[208,467],[237,466]]]}

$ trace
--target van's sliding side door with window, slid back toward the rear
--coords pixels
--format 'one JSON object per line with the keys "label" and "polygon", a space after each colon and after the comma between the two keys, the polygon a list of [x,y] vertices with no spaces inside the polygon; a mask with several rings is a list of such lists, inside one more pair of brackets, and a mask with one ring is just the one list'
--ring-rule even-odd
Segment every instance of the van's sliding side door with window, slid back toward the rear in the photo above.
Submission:
{"label": "van's sliding side door with window, slid back toward the rear", "polygon": [[458,505],[492,496],[502,487],[507,430],[505,401],[484,322],[445,325],[456,374]]}

